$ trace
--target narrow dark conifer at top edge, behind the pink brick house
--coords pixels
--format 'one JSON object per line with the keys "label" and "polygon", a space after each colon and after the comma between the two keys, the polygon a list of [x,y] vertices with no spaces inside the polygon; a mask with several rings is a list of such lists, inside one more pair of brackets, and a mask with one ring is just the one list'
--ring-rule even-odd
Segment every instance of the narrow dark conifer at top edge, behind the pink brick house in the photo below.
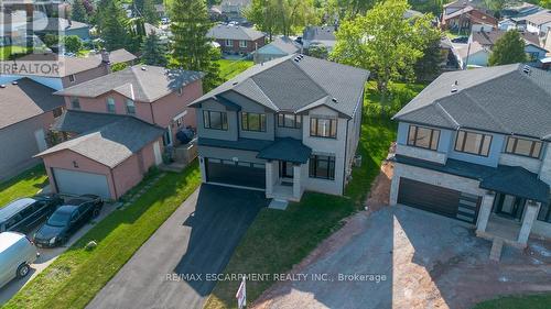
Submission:
{"label": "narrow dark conifer at top edge, behind the pink brick house", "polygon": [[130,22],[119,0],[102,0],[98,5],[99,36],[105,48],[114,51],[126,47],[129,37]]}

